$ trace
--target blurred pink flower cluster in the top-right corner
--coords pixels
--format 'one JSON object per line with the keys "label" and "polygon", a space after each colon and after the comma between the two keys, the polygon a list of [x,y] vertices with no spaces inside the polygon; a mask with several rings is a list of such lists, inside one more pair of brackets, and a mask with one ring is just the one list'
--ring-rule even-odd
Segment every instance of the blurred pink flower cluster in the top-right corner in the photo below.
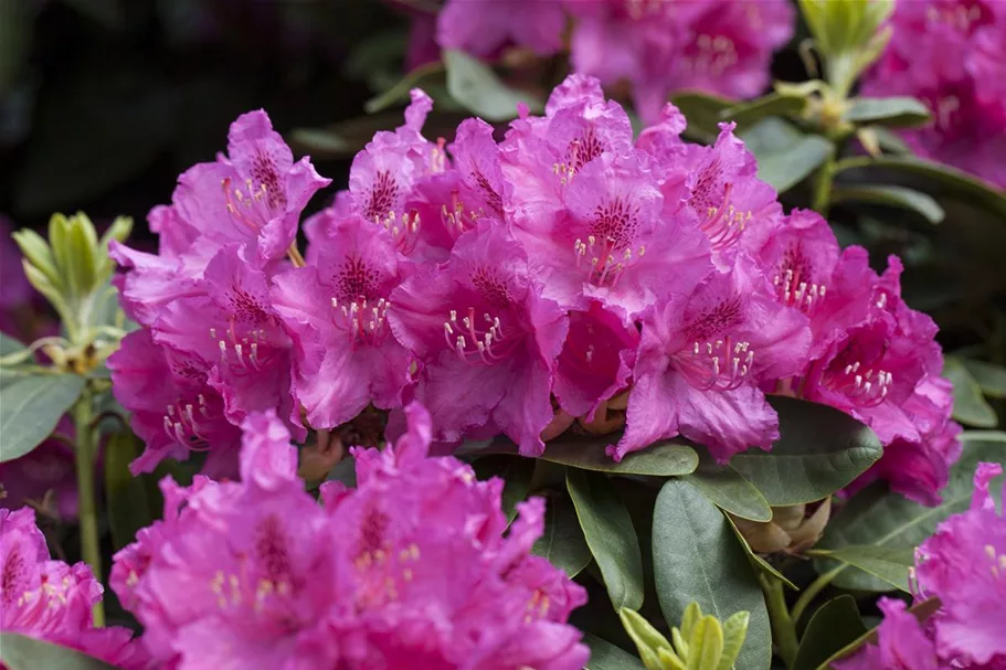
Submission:
{"label": "blurred pink flower cluster in the top-right corner", "polygon": [[903,134],[911,148],[1006,188],[1006,6],[902,0],[891,23],[864,93],[923,100],[933,121]]}

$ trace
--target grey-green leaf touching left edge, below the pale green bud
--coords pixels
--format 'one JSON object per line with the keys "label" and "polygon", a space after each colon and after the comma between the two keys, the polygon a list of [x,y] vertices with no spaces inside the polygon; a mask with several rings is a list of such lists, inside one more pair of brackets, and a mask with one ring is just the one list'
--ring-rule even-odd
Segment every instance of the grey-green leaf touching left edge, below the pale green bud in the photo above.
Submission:
{"label": "grey-green leaf touching left edge, below the pale green bud", "polygon": [[0,390],[0,462],[24,456],[49,437],[83,389],[84,377],[44,374]]}

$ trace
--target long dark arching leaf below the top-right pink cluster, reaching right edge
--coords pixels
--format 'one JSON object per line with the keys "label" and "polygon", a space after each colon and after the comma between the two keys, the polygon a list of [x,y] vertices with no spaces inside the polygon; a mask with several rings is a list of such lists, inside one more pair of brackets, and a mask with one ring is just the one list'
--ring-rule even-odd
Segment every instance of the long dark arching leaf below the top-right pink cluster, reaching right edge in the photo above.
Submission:
{"label": "long dark arching leaf below the top-right pink cluster, reaching right edge", "polygon": [[909,156],[883,156],[847,158],[838,161],[835,167],[836,173],[853,169],[862,169],[866,172],[864,181],[871,182],[877,181],[876,174],[869,174],[871,170],[923,177],[932,182],[923,189],[928,193],[942,190],[957,200],[1006,217],[1006,194],[981,179],[943,163]]}

